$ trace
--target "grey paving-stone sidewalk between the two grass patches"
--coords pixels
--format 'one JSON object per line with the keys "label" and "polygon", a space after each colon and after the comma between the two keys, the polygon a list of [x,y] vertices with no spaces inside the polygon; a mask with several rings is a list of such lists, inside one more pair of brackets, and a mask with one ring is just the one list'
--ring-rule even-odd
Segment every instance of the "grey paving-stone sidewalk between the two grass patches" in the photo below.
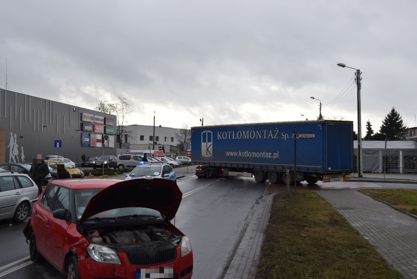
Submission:
{"label": "grey paving-stone sidewalk between the two grass patches", "polygon": [[357,190],[319,190],[389,264],[406,279],[417,278],[417,220]]}

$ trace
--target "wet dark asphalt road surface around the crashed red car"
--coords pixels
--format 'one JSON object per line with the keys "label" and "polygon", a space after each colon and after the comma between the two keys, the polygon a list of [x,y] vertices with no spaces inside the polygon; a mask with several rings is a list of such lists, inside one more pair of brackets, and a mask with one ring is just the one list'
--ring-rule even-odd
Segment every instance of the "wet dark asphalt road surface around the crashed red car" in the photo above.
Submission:
{"label": "wet dark asphalt road surface around the crashed red car", "polygon": [[[172,222],[191,241],[193,278],[222,278],[247,226],[245,220],[267,184],[253,179],[198,179],[190,174],[178,179],[178,185],[183,201]],[[0,222],[0,278],[64,279],[47,262],[28,259],[24,225]]]}

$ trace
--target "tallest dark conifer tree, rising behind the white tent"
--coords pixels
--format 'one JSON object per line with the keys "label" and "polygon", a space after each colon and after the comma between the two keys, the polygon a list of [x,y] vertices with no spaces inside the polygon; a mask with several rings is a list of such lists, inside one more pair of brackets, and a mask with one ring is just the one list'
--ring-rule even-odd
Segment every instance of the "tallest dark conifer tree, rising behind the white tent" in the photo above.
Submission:
{"label": "tallest dark conifer tree, rising behind the white tent", "polygon": [[382,121],[379,128],[379,133],[384,135],[388,140],[404,140],[404,131],[407,127],[404,126],[402,117],[395,110],[394,106],[390,113]]}

